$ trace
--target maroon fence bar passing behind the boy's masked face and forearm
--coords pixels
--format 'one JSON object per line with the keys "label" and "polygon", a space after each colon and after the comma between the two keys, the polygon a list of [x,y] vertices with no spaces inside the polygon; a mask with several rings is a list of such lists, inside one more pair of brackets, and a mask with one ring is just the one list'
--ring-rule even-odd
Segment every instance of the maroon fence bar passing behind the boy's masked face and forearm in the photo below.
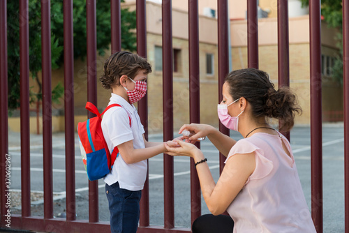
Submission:
{"label": "maroon fence bar passing behind the boy's masked face and forearm", "polygon": [[[147,58],[147,8],[145,0],[136,1],[137,15],[137,53],[140,57]],[[138,102],[138,114],[140,114],[140,122],[144,126],[144,137],[148,140],[148,94],[146,94]],[[149,162],[147,160],[148,167]],[[147,171],[147,179],[142,190],[142,198],[140,200],[140,226],[149,226],[149,170]]]}

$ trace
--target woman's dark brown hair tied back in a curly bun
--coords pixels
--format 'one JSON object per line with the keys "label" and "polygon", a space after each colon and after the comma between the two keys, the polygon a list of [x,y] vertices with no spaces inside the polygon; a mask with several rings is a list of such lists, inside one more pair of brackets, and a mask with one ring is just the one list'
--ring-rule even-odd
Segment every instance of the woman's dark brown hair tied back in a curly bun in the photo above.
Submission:
{"label": "woman's dark brown hair tied back in a curly bun", "polygon": [[294,125],[296,113],[302,113],[297,96],[289,87],[274,89],[269,75],[262,70],[246,68],[234,70],[225,78],[234,100],[246,98],[255,117],[270,117],[281,121],[281,130],[288,131]]}

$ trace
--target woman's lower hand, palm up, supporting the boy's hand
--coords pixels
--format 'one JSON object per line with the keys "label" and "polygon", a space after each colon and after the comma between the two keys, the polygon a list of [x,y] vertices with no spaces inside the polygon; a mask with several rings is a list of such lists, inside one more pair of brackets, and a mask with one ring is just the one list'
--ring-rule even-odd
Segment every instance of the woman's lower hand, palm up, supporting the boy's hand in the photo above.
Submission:
{"label": "woman's lower hand, palm up, supporting the boy's hand", "polygon": [[170,146],[168,143],[164,144],[170,156],[188,156],[192,158],[203,156],[200,149],[191,143],[180,140],[174,140],[173,142],[177,142],[177,146]]}

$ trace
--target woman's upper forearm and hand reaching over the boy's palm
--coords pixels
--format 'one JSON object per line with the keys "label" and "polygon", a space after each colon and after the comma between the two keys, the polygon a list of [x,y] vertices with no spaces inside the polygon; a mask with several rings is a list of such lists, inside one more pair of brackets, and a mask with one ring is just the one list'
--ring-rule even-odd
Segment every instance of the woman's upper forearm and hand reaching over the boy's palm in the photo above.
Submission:
{"label": "woman's upper forearm and hand reaching over the boy's palm", "polygon": [[225,157],[228,156],[230,149],[237,142],[231,137],[219,132],[219,130],[217,130],[213,126],[206,124],[191,123],[190,125],[184,125],[181,126],[179,133],[181,133],[185,129],[195,133],[188,138],[189,142],[196,142],[199,137],[207,136],[212,144],[214,144],[218,151],[221,152]]}

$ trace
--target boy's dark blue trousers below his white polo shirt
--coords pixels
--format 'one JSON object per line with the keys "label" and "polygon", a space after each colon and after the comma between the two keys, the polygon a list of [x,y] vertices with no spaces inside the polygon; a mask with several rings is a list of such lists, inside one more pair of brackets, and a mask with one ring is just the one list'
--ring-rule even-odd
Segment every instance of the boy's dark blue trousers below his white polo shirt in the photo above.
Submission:
{"label": "boy's dark blue trousers below his white polo shirt", "polygon": [[119,182],[117,182],[111,186],[105,184],[105,193],[109,202],[112,233],[137,232],[142,190],[130,191],[120,188]]}

